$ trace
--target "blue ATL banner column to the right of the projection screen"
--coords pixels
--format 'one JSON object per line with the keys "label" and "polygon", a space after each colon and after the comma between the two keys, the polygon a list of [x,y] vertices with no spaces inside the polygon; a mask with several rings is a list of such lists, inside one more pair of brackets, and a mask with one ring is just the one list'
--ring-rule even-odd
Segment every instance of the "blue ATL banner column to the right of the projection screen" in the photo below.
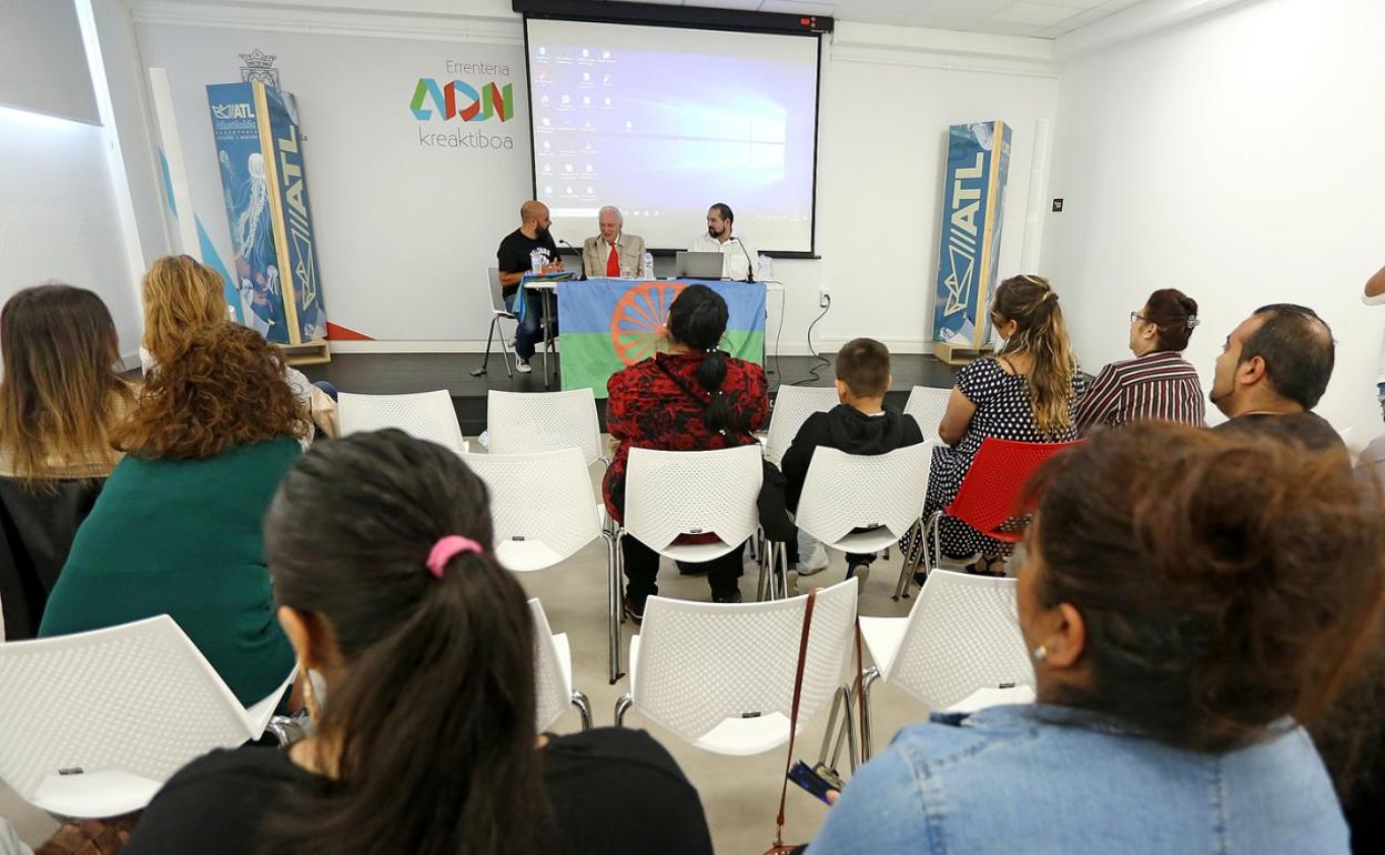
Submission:
{"label": "blue ATL banner column to the right of the projection screen", "polygon": [[1004,122],[953,125],[947,136],[933,341],[978,348],[990,341],[1010,127]]}

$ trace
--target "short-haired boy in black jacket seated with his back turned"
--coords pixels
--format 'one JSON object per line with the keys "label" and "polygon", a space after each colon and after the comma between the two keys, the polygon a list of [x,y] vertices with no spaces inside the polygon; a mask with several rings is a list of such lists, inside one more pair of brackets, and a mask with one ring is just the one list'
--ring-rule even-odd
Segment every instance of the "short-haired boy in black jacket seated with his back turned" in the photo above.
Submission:
{"label": "short-haired boy in black jacket seated with his back turned", "polygon": [[[924,441],[913,416],[885,409],[891,380],[889,351],[874,338],[853,338],[837,352],[837,396],[841,403],[825,413],[809,416],[784,452],[784,503],[791,513],[798,510],[817,446],[825,445],[848,455],[884,455]],[[798,575],[812,575],[827,567],[825,560],[809,557],[816,552],[821,552],[817,542],[799,532]],[[857,583],[864,586],[874,560],[874,554],[848,554],[846,578],[856,576]]]}

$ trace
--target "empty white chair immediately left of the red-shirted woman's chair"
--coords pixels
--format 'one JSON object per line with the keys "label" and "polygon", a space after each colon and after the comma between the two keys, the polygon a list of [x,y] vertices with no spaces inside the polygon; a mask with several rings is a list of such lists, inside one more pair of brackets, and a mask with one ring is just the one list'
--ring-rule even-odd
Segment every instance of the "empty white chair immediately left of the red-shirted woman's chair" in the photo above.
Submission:
{"label": "empty white chair immediately left of the red-shirted woman's chair", "polygon": [[620,678],[620,578],[615,538],[602,528],[582,452],[568,448],[535,455],[463,455],[490,491],[496,560],[506,570],[532,572],[572,557],[597,538],[607,545],[607,632],[611,682]]}

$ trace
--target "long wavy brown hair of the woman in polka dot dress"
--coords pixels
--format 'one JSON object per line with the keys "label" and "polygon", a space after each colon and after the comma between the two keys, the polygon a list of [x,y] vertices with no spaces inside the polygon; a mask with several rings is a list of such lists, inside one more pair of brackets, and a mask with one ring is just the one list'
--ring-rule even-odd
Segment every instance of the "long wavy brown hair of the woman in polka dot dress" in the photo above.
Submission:
{"label": "long wavy brown hair of the woman in polka dot dress", "polygon": [[1029,403],[1039,432],[1055,437],[1071,430],[1068,403],[1078,362],[1058,294],[1042,276],[1014,276],[996,290],[996,313],[1018,324],[1000,353],[1029,353],[1035,358],[1029,373]]}

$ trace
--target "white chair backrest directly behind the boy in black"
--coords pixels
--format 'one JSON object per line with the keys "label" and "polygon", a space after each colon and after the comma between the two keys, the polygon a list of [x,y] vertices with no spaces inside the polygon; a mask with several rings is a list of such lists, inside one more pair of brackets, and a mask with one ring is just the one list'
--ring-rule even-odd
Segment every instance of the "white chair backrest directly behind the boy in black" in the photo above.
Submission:
{"label": "white chair backrest directly behind the boy in black", "polygon": [[874,456],[814,449],[795,522],[827,545],[857,527],[884,525],[902,538],[924,511],[933,445]]}

